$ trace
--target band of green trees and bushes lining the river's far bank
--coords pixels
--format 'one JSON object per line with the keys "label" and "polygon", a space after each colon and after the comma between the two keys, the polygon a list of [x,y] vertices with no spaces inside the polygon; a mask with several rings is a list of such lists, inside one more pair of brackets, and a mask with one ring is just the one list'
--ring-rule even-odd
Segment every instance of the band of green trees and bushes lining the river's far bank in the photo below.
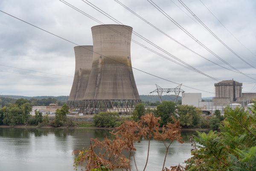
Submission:
{"label": "band of green trees and bushes lining the river's far bank", "polygon": [[175,105],[172,101],[163,101],[156,109],[146,109],[144,104],[137,104],[131,115],[120,115],[116,112],[100,112],[94,115],[68,115],[69,107],[64,104],[57,109],[55,115],[43,115],[35,110],[32,112],[32,104],[25,99],[17,99],[15,104],[0,109],[0,125],[15,126],[25,125],[36,127],[107,127],[114,128],[122,125],[125,121],[139,121],[145,114],[153,114],[160,117],[160,126],[172,123],[173,118],[180,121],[182,129],[212,129],[218,130],[224,116],[216,110],[212,116],[203,116],[201,109],[189,105]]}

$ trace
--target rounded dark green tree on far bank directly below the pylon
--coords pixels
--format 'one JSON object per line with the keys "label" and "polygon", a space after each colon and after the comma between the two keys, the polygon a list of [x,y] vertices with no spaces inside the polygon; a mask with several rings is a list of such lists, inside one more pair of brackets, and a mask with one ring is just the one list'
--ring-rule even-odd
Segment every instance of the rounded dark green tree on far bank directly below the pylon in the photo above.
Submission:
{"label": "rounded dark green tree on far bank directly below the pylon", "polygon": [[156,117],[161,117],[160,126],[166,125],[172,121],[171,116],[175,116],[175,102],[163,101],[157,106]]}

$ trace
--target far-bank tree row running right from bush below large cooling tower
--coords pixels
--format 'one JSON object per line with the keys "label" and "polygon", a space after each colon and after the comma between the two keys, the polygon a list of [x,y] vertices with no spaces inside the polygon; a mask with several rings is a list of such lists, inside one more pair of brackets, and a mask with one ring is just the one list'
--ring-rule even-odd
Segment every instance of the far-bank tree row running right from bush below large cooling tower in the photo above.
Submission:
{"label": "far-bank tree row running right from bush below large cooling tower", "polygon": [[115,112],[101,112],[93,116],[93,123],[97,127],[116,127],[126,120],[139,121],[141,116],[152,113],[155,117],[161,117],[160,126],[172,123],[173,119],[178,119],[183,128],[209,128],[218,129],[224,116],[216,110],[212,116],[202,116],[201,109],[190,105],[176,105],[172,101],[163,101],[157,105],[156,109],[146,109],[145,105],[137,104],[131,118],[120,117]]}

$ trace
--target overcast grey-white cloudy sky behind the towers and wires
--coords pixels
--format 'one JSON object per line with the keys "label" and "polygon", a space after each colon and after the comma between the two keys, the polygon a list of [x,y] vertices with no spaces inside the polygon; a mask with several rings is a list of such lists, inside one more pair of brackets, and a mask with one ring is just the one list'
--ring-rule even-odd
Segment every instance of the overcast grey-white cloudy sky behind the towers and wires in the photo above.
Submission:
{"label": "overcast grey-white cloudy sky behind the towers and wires", "polygon": [[[116,24],[82,0],[66,1],[105,24]],[[195,40],[185,34],[147,0],[119,1],[199,55],[233,70],[202,48],[201,45],[198,45]],[[116,3],[115,0],[89,0],[89,2],[124,25],[133,27],[134,31],[197,70],[219,80],[234,78],[234,80],[243,83],[243,92],[256,92],[256,83],[253,83],[256,82],[256,75],[248,75],[251,77],[249,78],[203,59],[136,17]],[[256,74],[256,1],[202,0],[227,30],[200,0],[183,0],[183,3],[218,38],[255,68],[244,63],[230,50],[227,50],[199,22],[196,22],[196,19],[186,11],[186,8],[178,0],[153,0],[153,2],[228,64],[242,73]],[[99,25],[99,23],[59,0],[0,0],[0,10],[78,45],[92,45],[90,28]],[[173,59],[134,34],[132,39]],[[72,43],[0,12],[0,94],[25,96],[69,95],[75,70],[74,46]],[[135,68],[207,92],[214,93],[214,83],[218,82],[164,59],[134,42],[131,43],[131,60]],[[134,77],[140,95],[154,90],[155,84],[163,88],[177,86],[177,84],[152,77],[137,70],[134,70]],[[186,93],[202,93],[203,97],[214,96],[212,93],[188,87],[182,87],[182,89]]]}

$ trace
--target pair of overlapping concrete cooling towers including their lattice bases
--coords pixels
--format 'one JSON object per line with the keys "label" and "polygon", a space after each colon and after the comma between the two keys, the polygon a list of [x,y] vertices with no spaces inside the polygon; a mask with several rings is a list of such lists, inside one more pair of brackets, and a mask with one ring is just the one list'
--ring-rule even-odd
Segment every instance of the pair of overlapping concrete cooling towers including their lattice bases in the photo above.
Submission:
{"label": "pair of overlapping concrete cooling towers including their lattice bases", "polygon": [[96,25],[93,46],[77,46],[68,105],[80,113],[131,113],[141,103],[131,67],[132,28]]}

